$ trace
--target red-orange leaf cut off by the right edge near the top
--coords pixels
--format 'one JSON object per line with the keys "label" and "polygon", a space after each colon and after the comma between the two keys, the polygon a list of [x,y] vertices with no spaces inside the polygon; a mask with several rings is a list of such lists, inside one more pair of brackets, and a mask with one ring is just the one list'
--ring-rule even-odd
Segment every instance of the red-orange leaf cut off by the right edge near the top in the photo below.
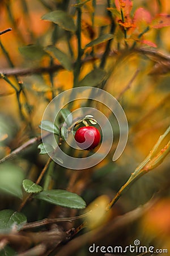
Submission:
{"label": "red-orange leaf cut off by the right edge near the top", "polygon": [[152,28],[162,28],[168,26],[170,26],[170,15],[163,13],[156,15],[151,23]]}

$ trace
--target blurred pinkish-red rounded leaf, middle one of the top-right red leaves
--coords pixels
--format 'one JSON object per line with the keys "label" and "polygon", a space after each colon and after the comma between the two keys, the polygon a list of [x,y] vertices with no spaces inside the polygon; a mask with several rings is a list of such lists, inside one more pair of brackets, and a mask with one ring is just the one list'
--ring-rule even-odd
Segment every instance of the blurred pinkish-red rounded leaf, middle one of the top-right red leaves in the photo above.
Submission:
{"label": "blurred pinkish-red rounded leaf, middle one of the top-right red leaves", "polygon": [[152,21],[151,14],[143,9],[139,8],[134,13],[133,22],[137,26],[137,28],[145,28]]}

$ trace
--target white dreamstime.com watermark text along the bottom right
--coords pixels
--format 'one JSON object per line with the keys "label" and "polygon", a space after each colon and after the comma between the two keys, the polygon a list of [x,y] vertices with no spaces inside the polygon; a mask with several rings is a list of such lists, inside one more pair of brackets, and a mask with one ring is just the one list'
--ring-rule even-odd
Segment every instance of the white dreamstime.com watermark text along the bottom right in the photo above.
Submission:
{"label": "white dreamstime.com watermark text along the bottom right", "polygon": [[90,253],[166,253],[168,249],[155,249],[154,246],[142,246],[137,239],[134,241],[134,245],[122,246],[97,246],[93,243],[88,250]]}

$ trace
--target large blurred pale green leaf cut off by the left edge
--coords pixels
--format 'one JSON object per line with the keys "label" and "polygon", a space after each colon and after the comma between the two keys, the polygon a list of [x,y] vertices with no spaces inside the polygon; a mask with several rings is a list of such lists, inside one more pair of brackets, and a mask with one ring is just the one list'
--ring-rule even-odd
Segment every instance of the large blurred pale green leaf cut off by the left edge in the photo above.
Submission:
{"label": "large blurred pale green leaf cut off by the left edge", "polygon": [[0,165],[0,192],[22,199],[22,181],[24,172],[14,164]]}

